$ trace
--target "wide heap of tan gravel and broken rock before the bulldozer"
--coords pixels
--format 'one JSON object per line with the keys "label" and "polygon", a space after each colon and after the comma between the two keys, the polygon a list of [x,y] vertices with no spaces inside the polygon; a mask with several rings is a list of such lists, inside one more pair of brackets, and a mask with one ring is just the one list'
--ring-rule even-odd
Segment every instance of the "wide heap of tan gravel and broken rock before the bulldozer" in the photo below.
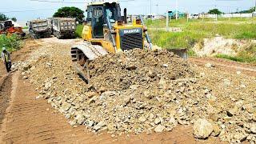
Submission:
{"label": "wide heap of tan gravel and broken rock before the bulldozer", "polygon": [[42,46],[13,67],[70,125],[114,135],[192,125],[195,138],[256,141],[255,77],[195,66],[167,51],[132,50],[91,62],[86,85],[72,67],[71,44]]}

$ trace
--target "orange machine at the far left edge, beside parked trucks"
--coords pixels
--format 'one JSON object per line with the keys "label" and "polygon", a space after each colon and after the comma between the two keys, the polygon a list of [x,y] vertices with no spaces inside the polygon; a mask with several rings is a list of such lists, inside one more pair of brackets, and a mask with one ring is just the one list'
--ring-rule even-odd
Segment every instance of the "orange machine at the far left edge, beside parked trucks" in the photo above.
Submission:
{"label": "orange machine at the far left edge, beside parked trucks", "polygon": [[0,21],[0,34],[12,35],[17,34],[18,36],[25,37],[26,33],[23,32],[21,26],[14,26],[10,20]]}

